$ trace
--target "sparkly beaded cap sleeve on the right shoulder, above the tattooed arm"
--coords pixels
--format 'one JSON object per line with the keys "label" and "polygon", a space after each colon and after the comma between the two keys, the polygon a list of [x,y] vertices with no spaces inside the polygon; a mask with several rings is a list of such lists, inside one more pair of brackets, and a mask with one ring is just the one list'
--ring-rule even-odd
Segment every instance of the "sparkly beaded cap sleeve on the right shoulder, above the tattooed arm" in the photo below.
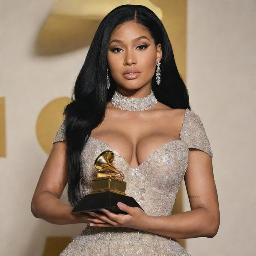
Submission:
{"label": "sparkly beaded cap sleeve on the right shoulder, above the tattooed arm", "polygon": [[213,157],[210,142],[200,117],[188,108],[185,112],[180,138],[187,142],[188,148],[202,150]]}

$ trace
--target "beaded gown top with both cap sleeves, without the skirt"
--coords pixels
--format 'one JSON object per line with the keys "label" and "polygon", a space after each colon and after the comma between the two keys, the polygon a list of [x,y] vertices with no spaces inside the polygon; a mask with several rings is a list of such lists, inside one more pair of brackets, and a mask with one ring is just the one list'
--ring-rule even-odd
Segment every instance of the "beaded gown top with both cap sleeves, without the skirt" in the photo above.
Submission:
{"label": "beaded gown top with both cap sleeves, without the skirt", "polygon": [[[53,143],[65,140],[65,121],[60,126]],[[82,195],[92,191],[92,179],[97,170],[94,161],[104,150],[112,150],[112,164],[122,170],[126,181],[126,194],[132,196],[148,215],[169,215],[188,165],[189,148],[197,148],[209,154],[210,142],[199,116],[186,109],[180,139],[172,140],[156,149],[137,168],[131,166],[108,144],[89,137],[82,150],[81,191]],[[152,203],[154,202],[154,203]],[[165,202],[163,205],[162,202]]]}

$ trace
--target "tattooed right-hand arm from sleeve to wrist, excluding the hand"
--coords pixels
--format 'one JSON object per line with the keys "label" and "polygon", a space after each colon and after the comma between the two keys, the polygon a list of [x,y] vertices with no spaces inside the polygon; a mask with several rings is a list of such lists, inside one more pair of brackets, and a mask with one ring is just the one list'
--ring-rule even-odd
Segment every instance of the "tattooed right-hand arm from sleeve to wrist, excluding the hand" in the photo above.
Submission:
{"label": "tattooed right-hand arm from sleeve to wrist, excluding the hand", "polygon": [[212,158],[201,150],[190,150],[184,180],[191,210],[149,216],[144,230],[175,238],[214,237],[220,225],[220,212]]}

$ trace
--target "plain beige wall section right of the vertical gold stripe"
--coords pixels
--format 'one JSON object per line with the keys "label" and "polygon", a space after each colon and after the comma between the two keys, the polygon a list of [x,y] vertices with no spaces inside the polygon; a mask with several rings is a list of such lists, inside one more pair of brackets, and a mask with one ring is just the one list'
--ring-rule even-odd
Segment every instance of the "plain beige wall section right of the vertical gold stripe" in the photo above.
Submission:
{"label": "plain beige wall section right of the vertical gold stripe", "polygon": [[256,255],[255,13],[254,0],[188,1],[187,84],[220,203],[218,234],[186,240],[193,256]]}

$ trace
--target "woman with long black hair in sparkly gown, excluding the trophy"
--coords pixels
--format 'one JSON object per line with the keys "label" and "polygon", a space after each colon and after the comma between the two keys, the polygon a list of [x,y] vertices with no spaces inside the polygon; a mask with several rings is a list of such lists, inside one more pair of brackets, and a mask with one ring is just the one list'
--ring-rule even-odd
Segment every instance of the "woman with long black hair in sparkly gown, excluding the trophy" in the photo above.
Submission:
{"label": "woman with long black hair in sparkly gown, excluding the trophy", "polygon": [[[216,235],[210,143],[154,12],[122,5],[102,20],[64,116],[31,204],[48,222],[87,224],[60,255],[189,255],[175,238]],[[104,150],[144,211],[118,203],[128,214],[71,212],[92,190]],[[191,210],[172,215],[183,178]],[[67,182],[71,206],[59,200]]]}

